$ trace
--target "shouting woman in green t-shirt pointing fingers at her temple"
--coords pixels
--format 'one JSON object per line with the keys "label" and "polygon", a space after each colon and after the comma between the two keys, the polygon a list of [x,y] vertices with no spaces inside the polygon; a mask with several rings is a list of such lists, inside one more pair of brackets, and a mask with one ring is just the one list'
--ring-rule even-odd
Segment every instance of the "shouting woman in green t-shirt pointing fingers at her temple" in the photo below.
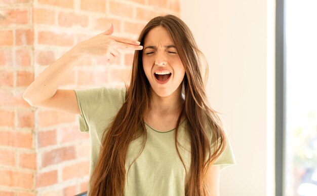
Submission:
{"label": "shouting woman in green t-shirt pointing fingers at her temple", "polygon": [[[219,195],[219,171],[234,164],[221,121],[208,104],[202,53],[179,18],[155,17],[138,41],[113,25],[77,44],[28,87],[34,106],[81,114],[91,140],[90,195]],[[59,90],[82,56],[135,50],[127,89]]]}

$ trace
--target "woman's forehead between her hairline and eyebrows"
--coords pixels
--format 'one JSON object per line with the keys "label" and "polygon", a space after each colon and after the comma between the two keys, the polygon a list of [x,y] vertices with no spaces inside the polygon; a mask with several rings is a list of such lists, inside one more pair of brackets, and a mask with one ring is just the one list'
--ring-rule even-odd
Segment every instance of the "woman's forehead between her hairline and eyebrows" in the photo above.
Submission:
{"label": "woman's forehead between her hairline and eyebrows", "polygon": [[163,26],[152,28],[144,38],[144,46],[148,45],[174,45],[174,41],[167,29]]}

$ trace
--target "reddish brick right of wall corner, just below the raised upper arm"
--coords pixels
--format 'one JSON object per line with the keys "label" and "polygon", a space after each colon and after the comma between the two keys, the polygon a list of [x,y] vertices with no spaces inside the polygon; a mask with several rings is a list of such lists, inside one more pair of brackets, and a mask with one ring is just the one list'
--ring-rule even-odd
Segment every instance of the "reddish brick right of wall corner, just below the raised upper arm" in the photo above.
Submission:
{"label": "reddish brick right of wall corner, just below the raised upper arm", "polygon": [[73,123],[75,121],[75,114],[53,111],[41,110],[38,111],[38,125],[39,127],[48,127],[64,123]]}

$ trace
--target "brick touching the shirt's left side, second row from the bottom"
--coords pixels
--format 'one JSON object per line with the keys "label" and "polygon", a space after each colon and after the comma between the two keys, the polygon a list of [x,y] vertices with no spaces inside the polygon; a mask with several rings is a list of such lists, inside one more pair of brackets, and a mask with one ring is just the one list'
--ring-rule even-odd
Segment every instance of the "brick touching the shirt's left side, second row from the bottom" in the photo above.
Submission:
{"label": "brick touching the shirt's left side, second row from the bottom", "polygon": [[66,166],[62,171],[63,181],[71,178],[80,178],[89,174],[89,162],[82,162]]}

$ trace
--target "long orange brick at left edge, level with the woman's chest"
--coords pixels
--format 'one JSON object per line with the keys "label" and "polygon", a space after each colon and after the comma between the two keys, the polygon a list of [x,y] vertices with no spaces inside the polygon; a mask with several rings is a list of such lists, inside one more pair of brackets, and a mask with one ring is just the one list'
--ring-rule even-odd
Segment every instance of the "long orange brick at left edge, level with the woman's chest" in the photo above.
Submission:
{"label": "long orange brick at left edge, level with the woman's chest", "polygon": [[32,147],[32,133],[0,131],[0,145],[21,148]]}

